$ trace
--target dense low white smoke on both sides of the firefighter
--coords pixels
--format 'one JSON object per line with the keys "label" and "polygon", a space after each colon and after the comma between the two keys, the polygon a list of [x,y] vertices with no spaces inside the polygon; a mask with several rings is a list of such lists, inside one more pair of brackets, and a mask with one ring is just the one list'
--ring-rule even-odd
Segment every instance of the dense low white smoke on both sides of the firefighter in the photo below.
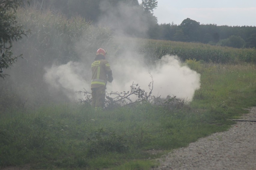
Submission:
{"label": "dense low white smoke on both sides of the firefighter", "polygon": [[[93,62],[93,59],[91,60]],[[145,65],[139,55],[129,56],[129,53],[116,58],[110,64],[114,81],[107,84],[108,92],[129,91],[133,83],[150,91],[150,75],[154,80],[152,95],[156,97],[166,98],[169,95],[191,101],[195,90],[200,88],[200,74],[183,65],[177,56],[163,56],[153,69]],[[83,88],[90,91],[91,77],[83,76],[88,75],[85,74],[88,70],[90,68],[85,68],[83,64],[70,61],[64,65],[47,68],[44,77],[51,87],[61,89],[71,100],[78,100],[81,96],[75,91],[83,91]]]}

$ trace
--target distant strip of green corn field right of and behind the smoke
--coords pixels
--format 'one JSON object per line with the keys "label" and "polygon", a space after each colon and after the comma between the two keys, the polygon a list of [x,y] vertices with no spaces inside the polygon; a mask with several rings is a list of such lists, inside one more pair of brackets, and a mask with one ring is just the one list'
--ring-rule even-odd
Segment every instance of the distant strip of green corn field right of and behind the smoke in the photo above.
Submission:
{"label": "distant strip of green corn field right of and behind the smoke", "polygon": [[159,59],[164,55],[177,55],[182,61],[196,59],[197,61],[214,63],[256,63],[255,48],[238,49],[203,43],[143,39],[138,39],[138,44],[142,44],[138,47],[138,51],[151,59]]}

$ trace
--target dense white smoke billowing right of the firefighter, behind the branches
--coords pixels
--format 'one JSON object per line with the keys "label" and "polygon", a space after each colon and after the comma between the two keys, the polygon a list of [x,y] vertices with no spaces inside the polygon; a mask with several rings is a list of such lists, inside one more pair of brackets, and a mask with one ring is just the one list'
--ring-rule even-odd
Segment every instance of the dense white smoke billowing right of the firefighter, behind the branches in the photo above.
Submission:
{"label": "dense white smoke billowing right of the firefighter, behind the branches", "polygon": [[182,64],[177,56],[163,56],[153,69],[138,58],[124,58],[111,65],[114,81],[108,84],[108,91],[129,91],[133,83],[150,91],[151,75],[154,81],[152,95],[156,97],[169,95],[192,100],[195,90],[200,88],[200,74]]}

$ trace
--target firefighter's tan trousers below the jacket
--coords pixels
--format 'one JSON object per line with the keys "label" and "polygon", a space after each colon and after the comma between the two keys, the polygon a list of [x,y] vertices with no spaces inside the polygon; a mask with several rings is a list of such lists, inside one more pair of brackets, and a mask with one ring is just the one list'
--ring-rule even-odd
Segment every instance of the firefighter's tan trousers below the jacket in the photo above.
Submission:
{"label": "firefighter's tan trousers below the jacket", "polygon": [[96,110],[103,109],[105,102],[105,86],[92,88],[92,104],[91,106]]}

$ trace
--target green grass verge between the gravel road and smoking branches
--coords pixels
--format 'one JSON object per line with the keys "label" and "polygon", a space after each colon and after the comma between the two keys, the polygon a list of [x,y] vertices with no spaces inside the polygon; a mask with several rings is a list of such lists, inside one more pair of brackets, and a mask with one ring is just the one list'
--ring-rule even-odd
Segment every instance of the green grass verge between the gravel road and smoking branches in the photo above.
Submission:
{"label": "green grass verge between the gravel road and smoking branches", "polygon": [[[250,64],[203,64],[200,90],[182,108],[149,103],[95,112],[78,103],[12,110],[0,117],[0,166],[41,169],[150,169],[160,154],[227,130],[255,106],[256,72]],[[190,64],[189,64],[190,63]],[[165,153],[165,152],[163,152]],[[163,154],[162,153],[162,154]]]}

